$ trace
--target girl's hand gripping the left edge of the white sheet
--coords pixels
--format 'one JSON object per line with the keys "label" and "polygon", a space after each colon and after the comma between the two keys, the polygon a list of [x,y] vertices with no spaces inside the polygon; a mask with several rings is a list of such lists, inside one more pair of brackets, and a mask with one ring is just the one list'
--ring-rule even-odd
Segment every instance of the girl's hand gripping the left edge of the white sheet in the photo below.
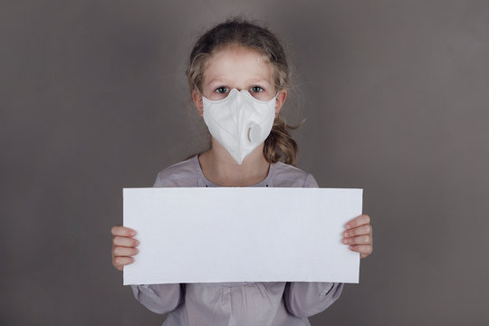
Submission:
{"label": "girl's hand gripping the left edge of the white sheet", "polygon": [[114,235],[112,240],[112,264],[116,269],[122,271],[124,265],[134,262],[134,258],[131,256],[139,253],[138,248],[136,248],[139,245],[139,241],[132,238],[132,236],[136,235],[136,232],[126,226],[114,225],[110,232]]}

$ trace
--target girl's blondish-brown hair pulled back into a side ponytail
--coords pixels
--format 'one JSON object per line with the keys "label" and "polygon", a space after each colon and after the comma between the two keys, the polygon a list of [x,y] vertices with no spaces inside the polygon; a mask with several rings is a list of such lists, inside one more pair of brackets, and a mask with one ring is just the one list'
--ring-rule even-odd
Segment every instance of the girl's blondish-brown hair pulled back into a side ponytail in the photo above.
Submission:
{"label": "girl's blondish-brown hair pulled back into a side ponytail", "polygon": [[[264,59],[273,64],[276,91],[291,87],[289,64],[277,37],[267,28],[237,16],[217,24],[197,39],[190,53],[186,71],[190,92],[197,90],[202,93],[207,60],[219,50],[235,44],[261,53]],[[288,126],[285,120],[280,118],[280,113],[275,117],[272,130],[264,140],[264,158],[269,163],[283,161],[295,166],[298,146],[289,129],[298,129],[303,122],[304,120],[297,126]]]}

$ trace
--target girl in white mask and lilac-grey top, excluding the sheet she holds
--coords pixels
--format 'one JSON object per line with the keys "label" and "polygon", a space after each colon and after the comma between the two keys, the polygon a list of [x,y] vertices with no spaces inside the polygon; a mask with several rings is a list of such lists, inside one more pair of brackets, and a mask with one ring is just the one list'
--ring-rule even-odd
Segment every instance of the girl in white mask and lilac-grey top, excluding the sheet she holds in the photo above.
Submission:
{"label": "girl in white mask and lilac-grey top, excluding the sheet she holds", "polygon": [[[154,187],[318,187],[295,167],[297,145],[278,116],[290,72],[283,47],[266,28],[231,19],[203,34],[187,67],[192,99],[212,147],[158,173]],[[293,127],[295,129],[297,127]],[[273,205],[273,203],[271,203]],[[362,258],[372,252],[369,216],[345,226],[343,243]],[[133,262],[135,231],[114,225],[112,264]],[[161,257],[165,259],[164,257]],[[166,326],[310,325],[343,283],[166,283],[131,285],[150,311],[169,312]]]}

